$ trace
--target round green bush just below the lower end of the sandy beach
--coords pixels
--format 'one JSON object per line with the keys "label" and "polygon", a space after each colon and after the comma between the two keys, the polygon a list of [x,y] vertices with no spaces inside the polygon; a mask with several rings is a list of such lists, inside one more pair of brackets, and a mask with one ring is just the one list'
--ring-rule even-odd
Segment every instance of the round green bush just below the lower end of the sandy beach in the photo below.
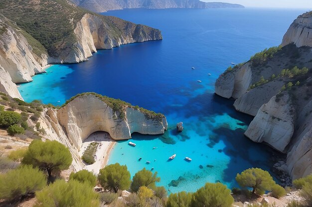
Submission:
{"label": "round green bush just below the lower end of the sandy beach", "polygon": [[117,193],[118,190],[129,189],[130,177],[130,172],[126,165],[115,163],[101,169],[98,180],[105,190]]}

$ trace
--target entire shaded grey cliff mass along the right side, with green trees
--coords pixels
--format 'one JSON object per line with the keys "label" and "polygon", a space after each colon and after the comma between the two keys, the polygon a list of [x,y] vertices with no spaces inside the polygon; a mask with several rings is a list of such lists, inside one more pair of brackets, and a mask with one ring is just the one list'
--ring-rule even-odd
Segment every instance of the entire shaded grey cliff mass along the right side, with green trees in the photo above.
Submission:
{"label": "entire shaded grey cliff mass along the right side, with green trees", "polygon": [[311,25],[312,12],[300,15],[280,47],[228,68],[215,83],[216,94],[234,98],[236,110],[255,116],[248,138],[288,153],[295,179],[312,173]]}

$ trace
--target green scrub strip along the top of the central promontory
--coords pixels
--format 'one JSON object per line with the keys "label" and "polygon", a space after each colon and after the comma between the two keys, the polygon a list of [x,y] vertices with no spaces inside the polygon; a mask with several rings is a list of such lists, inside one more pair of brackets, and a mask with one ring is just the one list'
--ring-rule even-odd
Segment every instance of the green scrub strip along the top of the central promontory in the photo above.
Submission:
{"label": "green scrub strip along the top of the central promontory", "polygon": [[127,103],[127,102],[122,101],[120,99],[102,96],[102,95],[100,95],[98,93],[94,93],[94,92],[79,93],[79,94],[71,97],[69,100],[67,100],[61,107],[66,106],[69,102],[71,102],[75,98],[83,96],[83,95],[94,95],[94,96],[96,96],[97,98],[99,98],[100,100],[105,102],[109,107],[111,107],[114,112],[119,112],[120,113],[119,118],[121,118],[121,119],[125,118],[125,116],[126,116],[125,111],[126,111],[127,107],[140,110],[142,113],[144,113],[144,115],[146,116],[147,119],[153,119],[153,120],[161,121],[161,119],[164,117],[163,114],[155,113],[154,111],[150,111],[150,110],[144,109],[144,108],[139,107],[139,106],[133,106],[130,103]]}

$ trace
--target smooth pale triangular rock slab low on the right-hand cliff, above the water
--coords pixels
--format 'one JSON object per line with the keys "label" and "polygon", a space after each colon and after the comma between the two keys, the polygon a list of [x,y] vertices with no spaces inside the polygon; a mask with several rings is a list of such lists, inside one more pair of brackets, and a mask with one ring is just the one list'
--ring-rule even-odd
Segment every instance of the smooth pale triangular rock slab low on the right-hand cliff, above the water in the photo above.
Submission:
{"label": "smooth pale triangular rock slab low on the right-hand cliff, above the water", "polygon": [[273,96],[262,105],[244,134],[255,142],[265,141],[283,152],[293,137],[295,120],[295,108],[285,92],[279,101]]}

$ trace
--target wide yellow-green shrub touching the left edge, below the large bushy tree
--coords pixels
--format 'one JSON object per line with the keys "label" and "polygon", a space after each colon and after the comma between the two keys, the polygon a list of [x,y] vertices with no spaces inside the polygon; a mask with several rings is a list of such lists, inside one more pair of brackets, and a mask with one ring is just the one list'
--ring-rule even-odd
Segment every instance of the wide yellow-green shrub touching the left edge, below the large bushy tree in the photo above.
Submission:
{"label": "wide yellow-green shrub touching the left edge, below the large bushy tree", "polygon": [[38,169],[23,165],[0,174],[0,199],[20,200],[46,185],[46,176]]}

